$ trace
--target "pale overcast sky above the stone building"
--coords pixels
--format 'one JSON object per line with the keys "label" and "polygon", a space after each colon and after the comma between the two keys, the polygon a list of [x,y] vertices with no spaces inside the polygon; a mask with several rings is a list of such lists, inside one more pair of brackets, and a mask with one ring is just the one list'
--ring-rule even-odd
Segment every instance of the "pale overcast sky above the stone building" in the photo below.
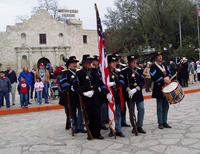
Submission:
{"label": "pale overcast sky above the stone building", "polygon": [[[84,29],[96,28],[94,3],[97,4],[100,18],[103,20],[107,7],[114,7],[114,0],[57,0],[59,6],[67,6],[70,10],[78,10],[76,18],[83,21]],[[38,0],[0,0],[0,32],[6,31],[6,25],[15,25],[17,15],[31,16],[33,6]],[[104,27],[105,29],[105,27]]]}

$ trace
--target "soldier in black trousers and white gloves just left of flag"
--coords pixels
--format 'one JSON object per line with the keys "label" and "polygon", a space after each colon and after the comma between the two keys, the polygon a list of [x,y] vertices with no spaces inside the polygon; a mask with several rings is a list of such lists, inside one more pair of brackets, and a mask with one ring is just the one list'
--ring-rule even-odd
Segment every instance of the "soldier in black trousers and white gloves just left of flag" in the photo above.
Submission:
{"label": "soldier in black trousers and white gloves just left of flag", "polygon": [[85,101],[86,111],[89,118],[88,126],[93,138],[104,139],[100,134],[101,102],[98,93],[100,78],[97,70],[91,68],[91,62],[92,58],[90,55],[83,55],[81,62],[83,68],[80,71],[77,71],[73,87]]}

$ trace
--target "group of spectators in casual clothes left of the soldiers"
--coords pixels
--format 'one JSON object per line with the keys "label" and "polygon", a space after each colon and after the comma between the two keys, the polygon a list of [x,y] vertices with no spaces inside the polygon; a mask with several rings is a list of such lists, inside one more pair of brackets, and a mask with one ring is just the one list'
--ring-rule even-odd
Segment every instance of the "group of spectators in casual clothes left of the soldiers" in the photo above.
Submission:
{"label": "group of spectators in casual clothes left of the soldiers", "polygon": [[28,70],[28,67],[23,67],[23,71],[17,77],[15,71],[8,65],[6,71],[0,71],[0,108],[4,106],[4,98],[7,109],[11,107],[11,104],[15,105],[16,92],[20,96],[22,108],[28,108],[33,99],[37,100],[37,104],[43,104],[43,99],[48,104],[49,82],[56,80],[63,69],[62,66],[59,66],[53,71],[50,63],[46,67],[41,63],[39,68],[34,65],[31,71]]}

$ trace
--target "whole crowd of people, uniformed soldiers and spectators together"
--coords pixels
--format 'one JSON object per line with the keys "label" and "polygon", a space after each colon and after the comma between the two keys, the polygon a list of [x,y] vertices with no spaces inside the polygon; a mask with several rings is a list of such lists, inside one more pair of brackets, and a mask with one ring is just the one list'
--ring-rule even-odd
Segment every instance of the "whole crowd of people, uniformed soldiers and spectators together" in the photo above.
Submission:
{"label": "whole crowd of people, uniformed soldiers and spectators together", "polygon": [[[127,65],[121,64],[121,56],[118,53],[109,55],[109,82],[107,86],[112,89],[112,95],[116,108],[116,135],[125,137],[121,127],[130,127],[126,122],[126,110],[128,108],[130,123],[133,127],[132,133],[135,133],[133,112],[131,103],[133,102],[133,111],[137,107],[136,127],[139,133],[145,134],[143,129],[144,120],[144,98],[142,89],[145,85],[145,91],[151,92],[152,97],[156,98],[157,103],[157,121],[158,128],[171,128],[167,123],[169,103],[163,95],[162,87],[170,84],[170,78],[177,74],[177,80],[182,87],[188,87],[188,82],[194,84],[200,81],[200,62],[196,63],[185,57],[181,58],[176,64],[172,59],[169,60],[169,66],[163,62],[161,52],[155,52],[152,59],[147,63],[137,62],[135,55],[127,56]],[[103,139],[101,129],[108,130],[106,122],[108,121],[108,102],[113,101],[112,95],[102,81],[101,70],[99,67],[99,57],[83,55],[79,63],[81,69],[78,69],[79,60],[75,56],[69,59],[63,59],[66,62],[67,70],[62,66],[53,71],[51,64],[39,64],[39,68],[34,66],[29,72],[28,67],[17,76],[11,66],[0,74],[0,107],[3,104],[3,97],[6,100],[6,107],[10,108],[10,95],[12,96],[12,105],[15,105],[16,84],[18,83],[18,93],[20,95],[20,104],[22,108],[28,108],[30,100],[37,98],[38,104],[48,101],[49,80],[53,79],[58,84],[59,104],[65,108],[69,107],[72,115],[72,127],[74,133],[86,133],[83,125],[82,109],[80,97],[83,98],[86,106],[86,112],[89,120],[89,129],[94,138]],[[35,91],[35,96],[33,96]],[[69,92],[69,95],[66,94]],[[69,98],[68,98],[69,97]],[[127,107],[126,107],[127,106]],[[66,111],[66,110],[65,110]],[[134,113],[135,114],[135,113]],[[109,136],[112,137],[113,130],[110,129]]]}

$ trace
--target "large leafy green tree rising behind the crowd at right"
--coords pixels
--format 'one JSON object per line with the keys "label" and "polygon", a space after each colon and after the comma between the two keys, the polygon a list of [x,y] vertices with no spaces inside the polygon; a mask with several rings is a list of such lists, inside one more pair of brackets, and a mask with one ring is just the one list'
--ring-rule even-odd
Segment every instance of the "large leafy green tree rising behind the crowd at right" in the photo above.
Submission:
{"label": "large leafy green tree rising behind the crowd at right", "polygon": [[114,5],[115,9],[108,9],[104,21],[108,27],[106,33],[112,34],[105,35],[107,52],[118,50],[141,54],[150,47],[180,55],[179,19],[182,49],[194,51],[198,47],[197,13],[192,1],[115,0]]}

